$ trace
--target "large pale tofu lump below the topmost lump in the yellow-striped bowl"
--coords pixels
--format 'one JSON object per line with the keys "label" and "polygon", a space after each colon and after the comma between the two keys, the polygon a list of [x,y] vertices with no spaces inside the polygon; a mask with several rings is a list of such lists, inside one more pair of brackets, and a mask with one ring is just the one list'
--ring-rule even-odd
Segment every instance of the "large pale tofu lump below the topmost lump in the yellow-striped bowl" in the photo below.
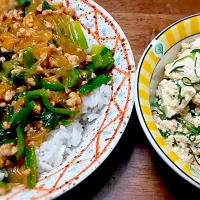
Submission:
{"label": "large pale tofu lump below the topmost lump in the yellow-striped bowl", "polygon": [[[181,87],[180,94],[177,84]],[[158,90],[156,91],[156,96],[160,99],[159,104],[168,118],[175,114],[180,114],[195,94],[196,90],[191,86],[183,85],[182,81],[177,81],[176,83],[166,79],[159,83]],[[182,100],[178,98],[179,95],[182,97]]]}

